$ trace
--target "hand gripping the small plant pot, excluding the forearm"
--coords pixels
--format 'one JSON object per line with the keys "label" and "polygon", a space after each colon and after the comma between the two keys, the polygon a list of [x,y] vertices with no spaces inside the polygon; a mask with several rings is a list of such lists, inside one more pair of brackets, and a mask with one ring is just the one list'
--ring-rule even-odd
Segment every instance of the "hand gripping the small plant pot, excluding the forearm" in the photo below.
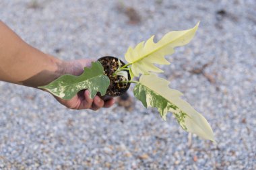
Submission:
{"label": "hand gripping the small plant pot, excluding the forearm", "polygon": [[[65,74],[81,75],[84,71],[84,67],[90,67],[92,59],[81,59],[65,62]],[[110,108],[115,99],[110,98],[106,101],[96,95],[93,99],[90,98],[90,91],[88,89],[79,91],[72,99],[65,100],[59,97],[55,97],[57,101],[65,105],[67,108],[74,110],[91,109],[98,110],[100,108]]]}

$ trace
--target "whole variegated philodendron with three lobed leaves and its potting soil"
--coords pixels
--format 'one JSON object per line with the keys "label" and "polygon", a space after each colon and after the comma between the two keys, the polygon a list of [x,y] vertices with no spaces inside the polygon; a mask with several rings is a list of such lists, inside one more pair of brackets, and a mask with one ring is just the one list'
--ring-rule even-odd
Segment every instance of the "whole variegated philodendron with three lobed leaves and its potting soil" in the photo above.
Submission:
{"label": "whole variegated philodendron with three lobed leaves and its potting soil", "polygon": [[[40,88],[63,99],[71,99],[78,91],[89,89],[90,97],[93,98],[97,93],[101,96],[121,95],[115,92],[119,89],[126,91],[130,83],[135,83],[133,94],[146,108],[157,108],[163,120],[166,120],[168,112],[172,112],[181,128],[214,141],[214,134],[207,120],[181,99],[181,92],[170,89],[169,82],[158,77],[156,73],[163,71],[154,65],[170,65],[164,56],[174,53],[175,47],[188,44],[198,26],[199,23],[189,30],[169,32],[157,43],[154,43],[152,36],[135,48],[129,47],[125,54],[128,62],[126,65],[114,57],[106,57],[106,60],[100,58],[92,62],[90,68],[85,67],[82,75],[63,75]],[[139,77],[139,81],[134,81],[134,77]],[[113,89],[116,91],[113,92]]]}

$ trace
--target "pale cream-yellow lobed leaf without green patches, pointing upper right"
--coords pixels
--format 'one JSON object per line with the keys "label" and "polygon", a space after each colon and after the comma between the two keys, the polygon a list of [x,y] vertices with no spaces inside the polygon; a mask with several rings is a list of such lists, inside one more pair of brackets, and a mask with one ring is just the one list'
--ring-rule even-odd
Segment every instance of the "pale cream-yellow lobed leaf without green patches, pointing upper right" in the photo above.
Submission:
{"label": "pale cream-yellow lobed leaf without green patches, pointing upper right", "polygon": [[154,64],[169,65],[170,62],[164,56],[174,53],[174,47],[188,44],[195,35],[198,26],[199,22],[189,30],[169,32],[157,43],[154,43],[154,36],[152,36],[147,42],[137,44],[134,49],[129,47],[125,54],[125,60],[132,64],[133,75],[138,77],[140,73],[161,73],[162,70]]}

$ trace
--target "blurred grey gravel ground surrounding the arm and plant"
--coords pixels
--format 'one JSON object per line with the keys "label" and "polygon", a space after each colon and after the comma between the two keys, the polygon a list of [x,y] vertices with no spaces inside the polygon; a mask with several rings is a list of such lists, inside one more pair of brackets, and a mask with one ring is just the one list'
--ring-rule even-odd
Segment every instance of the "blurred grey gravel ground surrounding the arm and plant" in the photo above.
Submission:
{"label": "blurred grey gravel ground surrounding the arm and plant", "polygon": [[159,40],[201,21],[162,76],[207,118],[218,144],[139,101],[131,112],[73,111],[48,93],[0,82],[0,169],[256,169],[255,11],[254,0],[1,0],[3,22],[65,60],[123,58],[152,34]]}

